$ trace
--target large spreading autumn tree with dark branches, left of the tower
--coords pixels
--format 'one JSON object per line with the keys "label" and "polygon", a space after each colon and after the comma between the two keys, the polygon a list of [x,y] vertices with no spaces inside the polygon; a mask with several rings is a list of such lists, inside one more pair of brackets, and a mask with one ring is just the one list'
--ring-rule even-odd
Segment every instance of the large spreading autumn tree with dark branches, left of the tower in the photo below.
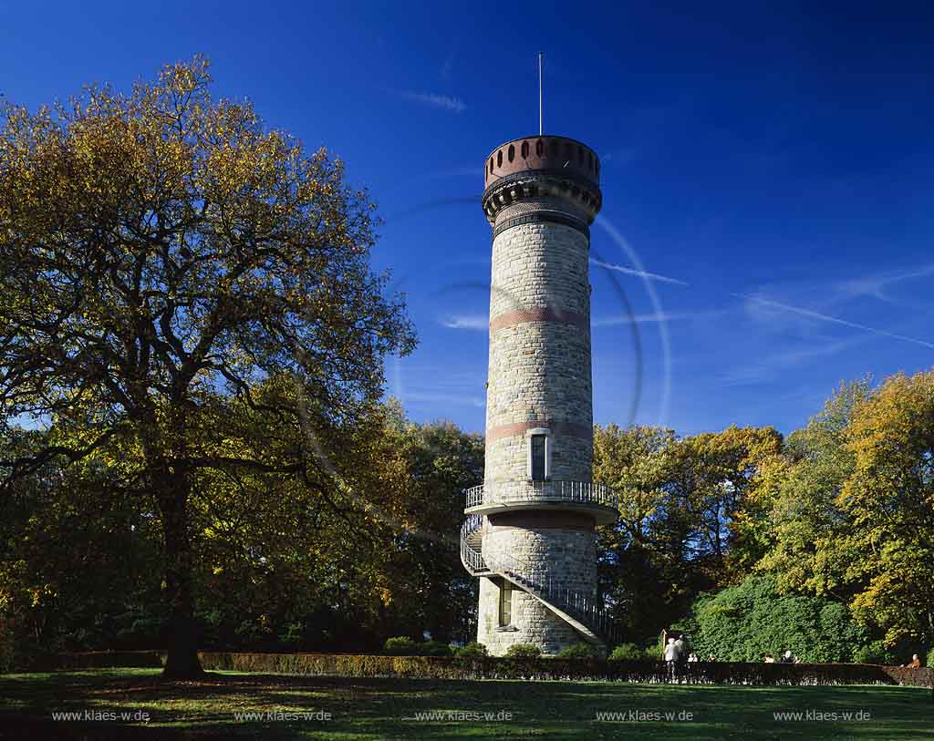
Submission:
{"label": "large spreading autumn tree with dark branches, left of the tower", "polygon": [[[163,524],[174,677],[200,671],[200,482],[333,473],[335,430],[373,409],[383,358],[414,343],[402,300],[369,266],[366,193],[347,187],[340,161],[268,130],[247,103],[214,100],[209,84],[196,58],[127,93],[92,87],[35,113],[7,105],[0,133],[2,424],[50,427],[0,466],[14,482],[115,441],[138,451],[133,483]],[[276,378],[289,390],[253,398]],[[266,454],[218,439],[202,413],[217,412],[218,394],[302,429],[303,444]]]}

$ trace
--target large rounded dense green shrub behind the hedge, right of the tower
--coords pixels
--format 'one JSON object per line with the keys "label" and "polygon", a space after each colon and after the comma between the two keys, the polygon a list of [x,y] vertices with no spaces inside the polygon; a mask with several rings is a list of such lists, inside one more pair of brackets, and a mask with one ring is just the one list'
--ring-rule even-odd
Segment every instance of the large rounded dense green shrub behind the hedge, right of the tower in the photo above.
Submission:
{"label": "large rounded dense green shrub behind the hedge, right of the tower", "polygon": [[701,597],[691,636],[701,655],[719,661],[761,661],[765,653],[791,650],[804,662],[847,662],[866,632],[842,605],[818,597],[779,594],[769,577],[749,577],[737,587]]}

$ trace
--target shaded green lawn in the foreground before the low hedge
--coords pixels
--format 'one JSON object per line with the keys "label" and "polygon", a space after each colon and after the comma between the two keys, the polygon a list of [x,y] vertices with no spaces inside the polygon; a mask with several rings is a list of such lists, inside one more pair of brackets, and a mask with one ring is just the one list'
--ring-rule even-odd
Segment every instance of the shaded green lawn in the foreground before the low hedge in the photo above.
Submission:
{"label": "shaded green lawn in the foreground before the low hedge", "polygon": [[[654,714],[682,714],[660,720]],[[774,712],[823,718],[774,720]],[[52,720],[91,712],[100,720]],[[262,713],[244,720],[238,714]],[[444,713],[425,719],[422,713]],[[618,712],[619,720],[597,713]],[[635,714],[630,717],[630,712]],[[863,720],[843,720],[862,712]],[[118,719],[106,720],[113,713]],[[267,717],[267,713],[274,714]],[[275,715],[311,713],[309,717]],[[323,715],[330,714],[330,720]],[[477,713],[479,717],[473,714]],[[484,714],[491,714],[484,717]],[[641,715],[639,715],[641,713]],[[687,714],[690,720],[686,720]],[[829,714],[837,713],[836,720]],[[869,718],[865,718],[865,714]],[[147,714],[149,720],[144,719]],[[507,717],[511,714],[511,717]],[[134,719],[134,715],[136,716]],[[921,739],[934,699],[912,687],[727,687],[609,682],[351,679],[158,669],[0,675],[0,738]]]}

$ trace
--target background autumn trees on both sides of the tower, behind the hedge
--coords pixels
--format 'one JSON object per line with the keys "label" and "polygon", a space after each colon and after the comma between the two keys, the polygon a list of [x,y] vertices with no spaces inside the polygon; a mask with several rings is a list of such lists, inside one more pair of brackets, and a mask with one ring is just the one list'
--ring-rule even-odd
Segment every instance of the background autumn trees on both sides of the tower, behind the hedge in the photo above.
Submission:
{"label": "background autumn trees on both sides of the tower, behind the hedge", "polygon": [[[248,405],[225,409],[215,425],[230,440],[270,444]],[[618,522],[599,534],[601,593],[625,640],[649,646],[681,629],[703,655],[738,661],[785,649],[903,661],[929,647],[931,419],[934,371],[844,384],[786,438],[768,427],[685,438],[596,427],[595,478],[620,496]],[[473,638],[476,585],[457,533],[463,489],[483,478],[482,437],[412,423],[390,401],[346,442],[353,465],[341,468],[355,473],[327,496],[281,472],[202,483],[192,497],[201,645]],[[132,448],[47,464],[0,502],[0,609],[21,641],[163,641],[161,514],[126,485],[143,465]]]}

